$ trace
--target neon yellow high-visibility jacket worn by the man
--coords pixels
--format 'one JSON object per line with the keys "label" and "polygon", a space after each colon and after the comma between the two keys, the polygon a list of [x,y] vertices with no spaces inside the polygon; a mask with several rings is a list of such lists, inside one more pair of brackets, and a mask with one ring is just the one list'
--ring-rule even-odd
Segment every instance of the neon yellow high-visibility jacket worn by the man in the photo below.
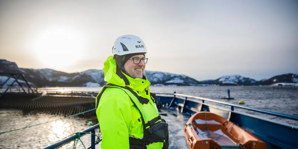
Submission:
{"label": "neon yellow high-visibility jacket worn by the man", "polygon": [[[142,79],[133,79],[116,70],[116,61],[113,56],[109,56],[104,62],[103,70],[105,72],[105,81],[108,84],[121,87],[128,86],[138,96],[149,100],[147,104],[142,104],[131,92],[117,87],[108,87],[104,90],[102,88],[96,97],[96,115],[102,133],[101,148],[129,149],[129,137],[140,139],[144,137],[140,112],[145,123],[159,116],[156,104],[150,96],[149,86],[151,83],[145,76]],[[123,77],[126,79],[123,79]],[[148,149],[161,149],[162,147],[162,142],[147,145]]]}

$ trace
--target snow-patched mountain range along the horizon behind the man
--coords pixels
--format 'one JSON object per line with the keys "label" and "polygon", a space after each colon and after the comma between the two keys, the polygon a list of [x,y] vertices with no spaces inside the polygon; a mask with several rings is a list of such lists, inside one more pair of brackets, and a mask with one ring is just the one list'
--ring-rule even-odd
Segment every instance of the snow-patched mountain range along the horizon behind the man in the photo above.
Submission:
{"label": "snow-patched mountain range along the horizon behind the man", "polygon": [[[106,84],[104,71],[96,69],[76,73],[66,73],[52,69],[26,69],[19,68],[14,62],[0,59],[1,72],[22,74],[31,86],[37,87],[99,87]],[[215,80],[197,81],[186,75],[167,72],[146,70],[145,73],[152,86],[272,85],[280,82],[298,84],[298,73],[276,75],[259,81],[241,75],[225,75]],[[0,75],[0,85],[9,76]],[[10,85],[13,81],[14,79],[10,78],[5,85]],[[19,78],[18,81],[25,84],[22,78]],[[16,85],[18,84],[15,82],[13,86]]]}

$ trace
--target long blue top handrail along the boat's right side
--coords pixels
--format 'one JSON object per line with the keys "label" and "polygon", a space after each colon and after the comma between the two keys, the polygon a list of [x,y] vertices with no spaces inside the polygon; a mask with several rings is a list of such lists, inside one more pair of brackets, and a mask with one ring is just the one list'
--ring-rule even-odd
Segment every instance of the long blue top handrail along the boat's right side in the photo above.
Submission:
{"label": "long blue top handrail along the boat's right side", "polygon": [[269,115],[273,115],[273,116],[279,116],[279,117],[282,117],[282,118],[287,118],[287,119],[290,119],[290,120],[297,120],[298,121],[298,116],[294,116],[294,115],[288,115],[288,114],[284,114],[284,113],[272,112],[272,111],[268,111],[268,110],[252,108],[252,107],[247,107],[247,106],[239,106],[239,105],[235,105],[235,104],[231,104],[231,103],[220,102],[220,101],[217,101],[217,100],[212,100],[212,99],[207,99],[207,98],[202,98],[202,97],[189,96],[189,95],[176,94],[176,93],[174,95],[193,98],[193,99],[200,99],[200,100],[203,100],[203,101],[206,100],[206,101],[210,101],[210,102],[216,102],[216,103],[231,106],[231,107],[233,107],[233,109],[234,109],[234,107],[237,107],[237,108],[241,108],[241,109],[247,109],[247,110],[251,110],[251,111],[255,111],[255,112],[259,112],[259,113],[265,113],[265,114],[269,114]]}

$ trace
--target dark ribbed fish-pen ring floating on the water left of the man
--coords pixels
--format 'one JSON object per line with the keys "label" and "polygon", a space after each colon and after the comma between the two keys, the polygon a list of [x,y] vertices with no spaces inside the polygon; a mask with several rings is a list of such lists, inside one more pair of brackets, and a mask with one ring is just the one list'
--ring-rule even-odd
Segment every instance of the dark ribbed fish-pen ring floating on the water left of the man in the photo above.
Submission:
{"label": "dark ribbed fish-pen ring floating on the water left of the man", "polygon": [[[21,109],[24,112],[48,113],[69,116],[95,108],[95,98],[90,95],[28,95],[0,98],[0,109]],[[95,110],[81,116],[95,116]]]}

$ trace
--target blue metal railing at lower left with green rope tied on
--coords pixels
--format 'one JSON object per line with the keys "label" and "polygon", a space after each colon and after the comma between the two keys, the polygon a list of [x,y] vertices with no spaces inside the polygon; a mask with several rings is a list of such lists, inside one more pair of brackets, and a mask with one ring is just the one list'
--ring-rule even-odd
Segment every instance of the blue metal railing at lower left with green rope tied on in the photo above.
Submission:
{"label": "blue metal railing at lower left with green rope tied on", "polygon": [[[75,139],[78,139],[79,137],[82,137],[86,134],[90,134],[91,133],[91,146],[90,147],[87,147],[86,149],[95,149],[95,145],[98,144],[101,140],[97,140],[95,141],[95,129],[99,129],[99,124],[95,125],[95,126],[92,126],[86,130],[84,130],[83,132],[79,132],[79,135],[78,134],[74,134],[70,137],[67,137],[63,140],[60,140],[48,147],[46,147],[45,149],[54,149],[54,148],[58,148],[58,147],[61,147],[65,144],[68,144],[70,143],[71,141],[74,141]],[[99,138],[98,138],[99,139]]]}

